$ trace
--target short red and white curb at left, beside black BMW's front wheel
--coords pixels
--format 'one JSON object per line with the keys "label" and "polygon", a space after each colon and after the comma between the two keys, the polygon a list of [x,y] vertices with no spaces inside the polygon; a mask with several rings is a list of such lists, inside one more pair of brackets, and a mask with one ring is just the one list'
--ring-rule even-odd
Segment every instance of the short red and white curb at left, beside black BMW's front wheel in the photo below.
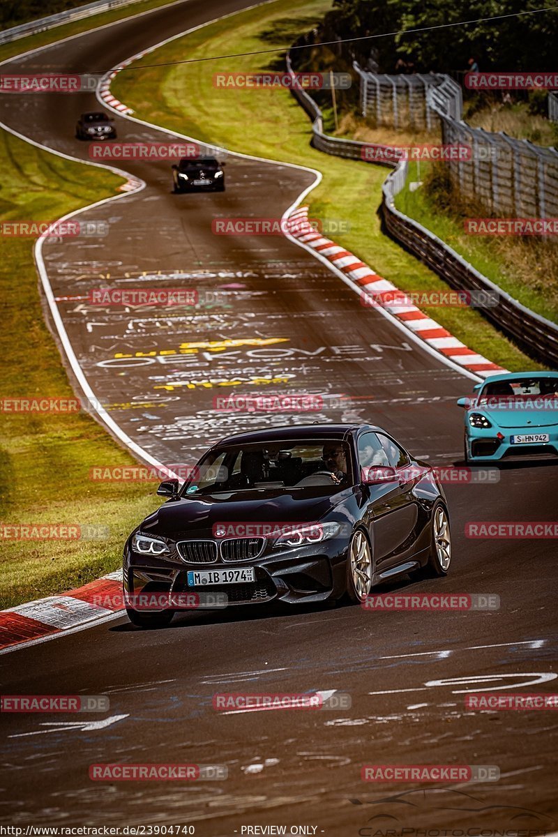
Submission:
{"label": "short red and white curb at left, beside black BMW's front wheel", "polygon": [[[103,606],[96,602],[102,600]],[[0,653],[15,645],[48,639],[90,622],[122,612],[122,571],[98,578],[84,587],[38,598],[0,611]]]}

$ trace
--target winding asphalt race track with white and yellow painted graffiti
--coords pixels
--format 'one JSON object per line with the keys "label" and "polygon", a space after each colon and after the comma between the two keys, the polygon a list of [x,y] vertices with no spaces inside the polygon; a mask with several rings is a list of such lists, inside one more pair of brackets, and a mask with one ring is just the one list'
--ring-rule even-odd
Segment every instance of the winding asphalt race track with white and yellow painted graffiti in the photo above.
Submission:
{"label": "winding asphalt race track with white and yellow painted graffiti", "polygon": [[[3,72],[109,69],[249,4],[187,0],[15,59]],[[0,121],[84,159],[76,117],[98,109],[93,93],[0,97]],[[122,117],[116,126],[119,140],[168,139]],[[371,421],[420,458],[460,462],[463,414],[454,403],[473,381],[361,306],[288,239],[212,234],[216,217],[279,217],[310,186],[310,172],[232,155],[227,164],[227,191],[202,195],[171,193],[166,162],[118,164],[146,188],[79,216],[105,220],[108,234],[44,246],[74,352],[115,422],[156,460],[192,464],[225,434],[284,422],[280,414],[215,409],[215,396],[228,390],[212,381],[240,381],[243,392],[330,397],[323,413],[294,421]],[[192,287],[213,301],[193,315],[88,305],[89,291],[107,284]],[[229,340],[238,343],[215,342]],[[558,691],[555,543],[473,540],[464,526],[551,521],[557,488],[555,465],[545,464],[505,466],[494,484],[447,485],[452,570],[396,587],[497,593],[494,612],[236,608],[176,617],[160,630],[116,619],[3,655],[9,693],[106,694],[110,711],[86,716],[89,728],[3,716],[0,823],[193,824],[208,837],[270,824],[334,837],[481,825],[550,834],[558,829],[553,713],[467,711],[463,692],[479,682],[490,691]],[[243,689],[349,693],[351,708],[212,709],[215,691]],[[228,778],[90,780],[91,764],[112,762],[226,765]],[[412,791],[361,781],[362,764],[393,762],[496,765],[501,778]]]}

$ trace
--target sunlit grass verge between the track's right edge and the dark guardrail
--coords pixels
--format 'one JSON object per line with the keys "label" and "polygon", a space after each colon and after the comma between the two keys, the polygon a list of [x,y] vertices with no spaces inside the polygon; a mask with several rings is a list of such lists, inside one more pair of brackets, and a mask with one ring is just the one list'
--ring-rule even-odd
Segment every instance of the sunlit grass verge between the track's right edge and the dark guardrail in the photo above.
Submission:
{"label": "sunlit grass verge between the track's right edge and the dark guardrail", "polygon": [[[387,169],[329,157],[310,147],[310,121],[287,90],[219,89],[212,75],[219,71],[250,72],[284,69],[281,47],[312,28],[329,3],[325,0],[277,0],[238,13],[233,20],[212,23],[166,44],[157,61],[249,53],[274,46],[276,54],[209,60],[196,64],[146,68],[121,73],[113,92],[146,121],[279,162],[320,169],[324,179],[310,193],[310,215],[343,218],[351,231],[335,240],[373,266],[402,290],[447,290],[431,270],[381,233],[376,208]],[[143,63],[153,61],[153,55]],[[278,209],[279,212],[279,209]],[[501,336],[477,311],[424,307],[468,347],[511,370],[536,364]]]}

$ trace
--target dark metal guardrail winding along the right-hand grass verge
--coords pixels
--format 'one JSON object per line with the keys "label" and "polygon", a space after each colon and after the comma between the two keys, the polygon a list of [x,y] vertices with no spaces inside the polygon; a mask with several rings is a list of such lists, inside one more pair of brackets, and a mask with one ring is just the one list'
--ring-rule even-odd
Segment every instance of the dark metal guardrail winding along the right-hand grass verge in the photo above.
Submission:
{"label": "dark metal guardrail winding along the right-hand grass verge", "polygon": [[[294,71],[289,53],[286,60],[287,71],[293,79],[290,90],[312,120],[312,145],[326,154],[369,162],[366,161],[362,149],[370,147],[371,143],[342,140],[324,133],[320,108],[305,90],[294,84]],[[387,160],[382,162],[382,165],[394,166]],[[485,290],[492,294],[496,292],[499,298],[498,305],[482,309],[484,316],[535,360],[545,363],[546,366],[558,367],[558,326],[514,300],[498,285],[479,273],[472,264],[468,264],[463,256],[456,253],[442,239],[438,239],[437,235],[400,212],[395,207],[395,196],[402,191],[406,182],[407,162],[402,161],[397,163],[382,187],[381,213],[388,233],[427,264],[450,287],[456,290]]]}

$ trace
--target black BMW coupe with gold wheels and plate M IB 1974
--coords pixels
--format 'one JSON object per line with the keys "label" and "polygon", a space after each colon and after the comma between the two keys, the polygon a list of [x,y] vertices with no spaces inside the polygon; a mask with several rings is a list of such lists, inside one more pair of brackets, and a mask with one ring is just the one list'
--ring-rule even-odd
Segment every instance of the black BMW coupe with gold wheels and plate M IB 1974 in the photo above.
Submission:
{"label": "black BMW coupe with gold wheels and plate M IB 1974", "polygon": [[363,602],[402,574],[443,576],[448,505],[431,465],[368,424],[309,424],[213,445],[131,533],[124,596],[134,624],[164,625],[171,604],[142,594],[224,593],[228,604]]}

